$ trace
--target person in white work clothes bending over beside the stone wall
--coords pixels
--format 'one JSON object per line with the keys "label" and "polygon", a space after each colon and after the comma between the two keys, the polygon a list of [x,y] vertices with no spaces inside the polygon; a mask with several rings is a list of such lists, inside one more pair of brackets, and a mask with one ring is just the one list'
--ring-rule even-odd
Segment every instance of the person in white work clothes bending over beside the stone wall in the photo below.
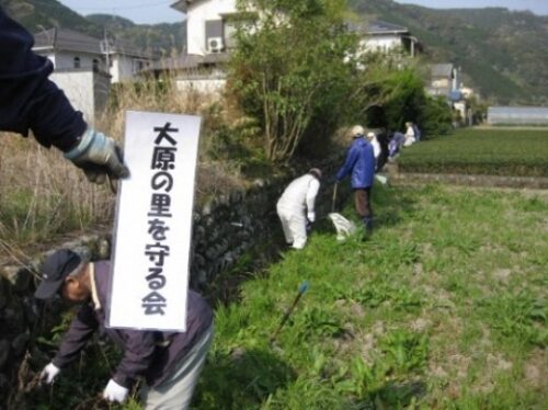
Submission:
{"label": "person in white work clothes bending over beside the stone wall", "polygon": [[305,248],[309,224],[316,220],[313,206],[320,180],[321,171],[312,168],[305,175],[292,181],[277,202],[276,210],[285,241],[295,249]]}

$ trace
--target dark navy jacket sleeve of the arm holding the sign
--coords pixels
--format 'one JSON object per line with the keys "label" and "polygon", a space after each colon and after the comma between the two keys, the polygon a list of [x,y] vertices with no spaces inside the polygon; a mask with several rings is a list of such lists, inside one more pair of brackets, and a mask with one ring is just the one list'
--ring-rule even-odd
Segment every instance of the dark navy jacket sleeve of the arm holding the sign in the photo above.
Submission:
{"label": "dark navy jacket sleeve of the arm holding the sign", "polygon": [[52,62],[32,52],[33,36],[0,8],[0,130],[67,151],[87,124],[61,90],[48,80]]}

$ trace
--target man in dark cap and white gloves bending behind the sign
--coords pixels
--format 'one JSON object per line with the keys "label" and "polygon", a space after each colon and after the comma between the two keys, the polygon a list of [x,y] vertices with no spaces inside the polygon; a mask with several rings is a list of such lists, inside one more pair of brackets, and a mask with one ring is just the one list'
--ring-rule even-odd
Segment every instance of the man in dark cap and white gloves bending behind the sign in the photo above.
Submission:
{"label": "man in dark cap and white gloves bending behind the sign", "polygon": [[42,269],[35,297],[81,303],[77,317],[62,338],[59,352],[42,372],[50,384],[59,372],[79,357],[95,330],[105,332],[124,352],[103,397],[123,402],[138,376],[146,409],[186,409],[213,338],[213,312],[207,303],[189,291],[187,330],[184,333],[105,328],[110,261],[83,262],[64,249],[53,253]]}

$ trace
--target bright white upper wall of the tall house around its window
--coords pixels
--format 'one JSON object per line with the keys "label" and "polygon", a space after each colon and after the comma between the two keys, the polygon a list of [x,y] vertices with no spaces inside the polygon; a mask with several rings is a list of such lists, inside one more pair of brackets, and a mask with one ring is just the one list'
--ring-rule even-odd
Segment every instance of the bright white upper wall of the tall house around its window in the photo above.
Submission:
{"label": "bright white upper wall of the tall house around its window", "polygon": [[222,20],[221,14],[236,12],[236,0],[210,0],[197,1],[189,5],[186,14],[187,53],[205,55],[206,33],[205,22],[209,20]]}

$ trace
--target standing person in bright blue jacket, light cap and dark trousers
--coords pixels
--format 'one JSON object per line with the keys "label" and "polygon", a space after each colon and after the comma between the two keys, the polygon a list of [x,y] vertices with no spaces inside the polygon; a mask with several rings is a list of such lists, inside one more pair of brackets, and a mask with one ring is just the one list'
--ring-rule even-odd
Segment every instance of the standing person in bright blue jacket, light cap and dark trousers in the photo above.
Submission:
{"label": "standing person in bright blue jacket, light cap and dark trousers", "polygon": [[352,128],[353,143],[346,153],[346,160],[336,173],[336,183],[351,175],[356,212],[364,221],[367,232],[373,230],[373,210],[370,205],[372,187],[375,176],[375,155],[373,145],[364,138],[364,128]]}

